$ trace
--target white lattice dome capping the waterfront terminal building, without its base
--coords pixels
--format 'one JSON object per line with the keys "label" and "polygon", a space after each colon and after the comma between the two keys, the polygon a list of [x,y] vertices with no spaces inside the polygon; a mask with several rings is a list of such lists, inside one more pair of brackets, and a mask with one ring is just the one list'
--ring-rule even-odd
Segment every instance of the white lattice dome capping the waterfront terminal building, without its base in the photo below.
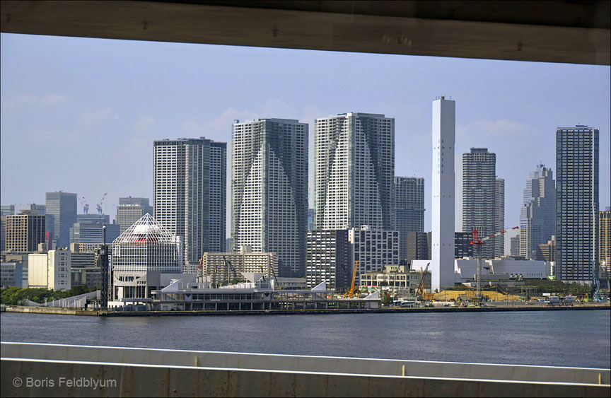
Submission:
{"label": "white lattice dome capping the waterfront terminal building, without its base", "polygon": [[113,271],[181,272],[180,240],[149,213],[112,242]]}

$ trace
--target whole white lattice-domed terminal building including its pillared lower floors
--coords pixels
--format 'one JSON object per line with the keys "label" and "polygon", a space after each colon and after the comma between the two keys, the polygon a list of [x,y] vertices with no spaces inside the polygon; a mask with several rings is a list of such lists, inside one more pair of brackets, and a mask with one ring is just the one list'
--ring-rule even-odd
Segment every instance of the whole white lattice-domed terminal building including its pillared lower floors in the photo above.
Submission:
{"label": "whole white lattice-domed terminal building including its pillared lower floors", "polygon": [[111,301],[115,304],[109,305],[150,299],[151,291],[165,287],[161,274],[182,272],[182,257],[180,238],[146,213],[112,242]]}

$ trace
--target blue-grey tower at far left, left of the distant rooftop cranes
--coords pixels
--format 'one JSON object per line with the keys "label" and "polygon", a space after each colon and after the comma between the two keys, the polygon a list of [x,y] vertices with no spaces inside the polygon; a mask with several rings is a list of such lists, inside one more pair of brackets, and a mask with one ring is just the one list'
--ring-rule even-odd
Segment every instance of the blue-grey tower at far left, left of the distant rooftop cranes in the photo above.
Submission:
{"label": "blue-grey tower at far left, left of the distant rooftop cranes", "polygon": [[69,247],[70,228],[76,223],[76,194],[68,192],[47,192],[47,215],[53,217],[53,239],[58,247]]}

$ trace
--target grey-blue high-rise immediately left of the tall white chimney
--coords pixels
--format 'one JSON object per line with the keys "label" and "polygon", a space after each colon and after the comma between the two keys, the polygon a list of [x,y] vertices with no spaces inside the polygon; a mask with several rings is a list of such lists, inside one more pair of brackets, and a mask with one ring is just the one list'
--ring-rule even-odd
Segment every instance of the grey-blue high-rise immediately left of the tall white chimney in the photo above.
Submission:
{"label": "grey-blue high-rise immediately left of the tall white chimney", "polygon": [[407,236],[424,232],[424,178],[395,177],[395,230],[400,232],[399,257],[407,255]]}

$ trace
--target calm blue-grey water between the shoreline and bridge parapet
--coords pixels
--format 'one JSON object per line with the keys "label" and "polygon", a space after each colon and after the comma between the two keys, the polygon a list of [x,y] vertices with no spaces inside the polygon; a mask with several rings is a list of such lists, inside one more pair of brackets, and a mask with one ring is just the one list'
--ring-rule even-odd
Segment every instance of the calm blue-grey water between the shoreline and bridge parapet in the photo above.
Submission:
{"label": "calm blue-grey water between the shoreline and bridge parapet", "polygon": [[2,313],[2,341],[610,368],[611,311],[75,317]]}

